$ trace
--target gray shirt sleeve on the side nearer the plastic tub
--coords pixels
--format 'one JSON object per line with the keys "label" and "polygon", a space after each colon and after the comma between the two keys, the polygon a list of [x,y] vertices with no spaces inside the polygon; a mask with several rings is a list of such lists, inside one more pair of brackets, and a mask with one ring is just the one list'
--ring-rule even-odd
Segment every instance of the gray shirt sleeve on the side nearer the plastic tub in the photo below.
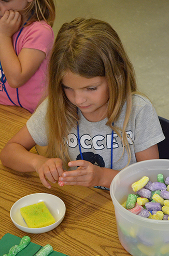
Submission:
{"label": "gray shirt sleeve on the side nearer the plastic tub", "polygon": [[149,100],[135,118],[134,151],[140,152],[164,140],[158,115]]}

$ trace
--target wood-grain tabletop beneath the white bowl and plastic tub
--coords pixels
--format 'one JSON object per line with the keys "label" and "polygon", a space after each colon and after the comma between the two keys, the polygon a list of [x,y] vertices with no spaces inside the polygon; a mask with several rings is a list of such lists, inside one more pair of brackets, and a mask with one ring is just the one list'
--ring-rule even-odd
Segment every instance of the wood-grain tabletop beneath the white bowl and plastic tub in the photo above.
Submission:
{"label": "wood-grain tabletop beneath the white bowl and plastic tub", "polygon": [[[0,105],[0,150],[30,116],[21,107]],[[31,151],[36,153],[35,149]],[[65,218],[54,230],[29,234],[12,223],[9,215],[12,205],[33,193],[50,193],[64,201]],[[58,183],[49,190],[35,172],[16,172],[0,162],[0,239],[6,233],[19,237],[29,235],[35,244],[50,244],[55,251],[69,256],[130,255],[118,239],[114,206],[108,191],[81,186],[60,187]]]}

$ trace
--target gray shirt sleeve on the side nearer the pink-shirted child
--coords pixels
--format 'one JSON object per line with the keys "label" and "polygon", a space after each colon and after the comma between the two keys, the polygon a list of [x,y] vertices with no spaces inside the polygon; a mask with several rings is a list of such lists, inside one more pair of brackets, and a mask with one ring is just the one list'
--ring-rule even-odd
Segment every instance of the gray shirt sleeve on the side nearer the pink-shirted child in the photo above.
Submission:
{"label": "gray shirt sleeve on the side nearer the pink-shirted child", "polygon": [[33,140],[39,146],[48,145],[48,126],[46,122],[47,102],[47,99],[45,99],[26,123]]}

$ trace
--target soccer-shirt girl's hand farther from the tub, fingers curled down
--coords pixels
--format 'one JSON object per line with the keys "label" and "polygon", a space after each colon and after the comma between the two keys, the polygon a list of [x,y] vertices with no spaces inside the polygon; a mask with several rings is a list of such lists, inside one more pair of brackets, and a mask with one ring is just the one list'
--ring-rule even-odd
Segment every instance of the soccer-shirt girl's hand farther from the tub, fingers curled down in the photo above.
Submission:
{"label": "soccer-shirt girl's hand farther from the tub, fingers curled down", "polygon": [[[43,158],[38,160],[35,165],[35,170],[39,174],[41,183],[44,186],[51,188],[51,183],[55,183],[62,176],[64,170],[62,168],[63,162],[60,158]],[[48,180],[48,181],[47,181]]]}

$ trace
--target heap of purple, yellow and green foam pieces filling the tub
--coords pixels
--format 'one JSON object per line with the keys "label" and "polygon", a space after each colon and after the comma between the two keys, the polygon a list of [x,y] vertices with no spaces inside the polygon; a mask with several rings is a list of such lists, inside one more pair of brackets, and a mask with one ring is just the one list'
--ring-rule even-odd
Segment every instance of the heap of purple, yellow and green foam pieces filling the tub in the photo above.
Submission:
{"label": "heap of purple, yellow and green foam pieces filling the tub", "polygon": [[[169,220],[169,191],[164,184],[162,173],[157,175],[157,180],[157,182],[151,182],[148,177],[144,176],[134,182],[132,188],[137,194],[129,194],[122,206],[140,217]],[[169,183],[169,176],[165,180]],[[143,186],[145,183],[146,185]]]}

